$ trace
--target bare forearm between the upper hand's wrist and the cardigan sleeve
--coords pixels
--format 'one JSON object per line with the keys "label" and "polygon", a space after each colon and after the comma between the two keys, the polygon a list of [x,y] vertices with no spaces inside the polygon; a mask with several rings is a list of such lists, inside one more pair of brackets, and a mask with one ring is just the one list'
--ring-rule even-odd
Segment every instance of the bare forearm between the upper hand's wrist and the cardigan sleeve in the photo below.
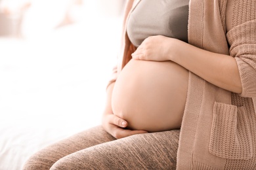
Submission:
{"label": "bare forearm between the upper hand's wrist and the cardigan sleeve", "polygon": [[202,50],[196,46],[172,39],[170,59],[207,82],[225,90],[242,93],[242,83],[236,60],[232,56]]}

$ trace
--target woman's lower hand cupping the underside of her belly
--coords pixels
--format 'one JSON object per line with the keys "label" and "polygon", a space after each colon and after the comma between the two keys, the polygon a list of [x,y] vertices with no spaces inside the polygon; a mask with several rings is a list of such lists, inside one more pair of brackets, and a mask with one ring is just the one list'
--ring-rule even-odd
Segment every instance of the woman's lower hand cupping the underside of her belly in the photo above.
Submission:
{"label": "woman's lower hand cupping the underside of her belly", "polygon": [[104,114],[102,116],[102,127],[116,139],[139,133],[147,133],[147,131],[144,130],[124,129],[127,125],[128,123],[125,120],[115,114]]}

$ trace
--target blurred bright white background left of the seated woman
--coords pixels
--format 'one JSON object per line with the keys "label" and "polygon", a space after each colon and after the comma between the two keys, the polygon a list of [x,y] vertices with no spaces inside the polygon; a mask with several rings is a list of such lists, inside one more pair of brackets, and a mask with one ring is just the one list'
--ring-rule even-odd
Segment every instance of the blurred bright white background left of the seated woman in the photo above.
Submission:
{"label": "blurred bright white background left of the seated woman", "polygon": [[0,0],[0,170],[100,124],[125,0]]}

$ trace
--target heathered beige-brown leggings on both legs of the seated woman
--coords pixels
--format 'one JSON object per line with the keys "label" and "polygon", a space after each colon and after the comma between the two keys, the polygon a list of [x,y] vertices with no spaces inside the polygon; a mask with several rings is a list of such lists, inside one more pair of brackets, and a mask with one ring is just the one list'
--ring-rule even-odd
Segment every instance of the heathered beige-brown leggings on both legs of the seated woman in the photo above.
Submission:
{"label": "heathered beige-brown leggings on both legs of the seated woman", "polygon": [[24,169],[176,169],[179,132],[116,140],[97,126],[35,153]]}

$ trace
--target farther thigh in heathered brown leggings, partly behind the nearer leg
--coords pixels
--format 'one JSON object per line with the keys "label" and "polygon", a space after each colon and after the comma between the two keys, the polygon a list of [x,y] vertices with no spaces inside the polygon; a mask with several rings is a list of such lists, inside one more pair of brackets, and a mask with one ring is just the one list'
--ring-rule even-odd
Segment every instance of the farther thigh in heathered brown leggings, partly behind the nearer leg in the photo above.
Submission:
{"label": "farther thigh in heathered brown leggings, partly behind the nearer leg", "polygon": [[23,169],[50,169],[60,158],[96,144],[115,140],[101,126],[77,133],[67,139],[51,144],[33,154]]}

